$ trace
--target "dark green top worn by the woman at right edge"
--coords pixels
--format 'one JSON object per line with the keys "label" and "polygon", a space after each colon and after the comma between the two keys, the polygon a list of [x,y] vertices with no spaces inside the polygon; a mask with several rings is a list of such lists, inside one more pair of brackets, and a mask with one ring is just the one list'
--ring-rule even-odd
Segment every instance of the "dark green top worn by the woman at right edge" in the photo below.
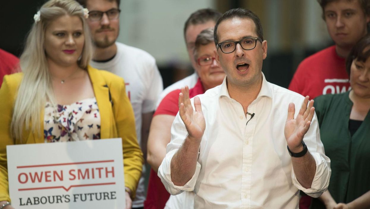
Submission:
{"label": "dark green top worn by the woman at right edge", "polygon": [[[329,192],[337,203],[349,203],[370,190],[370,111],[351,137],[352,106],[349,92],[319,96],[314,102],[321,141],[331,160]],[[312,208],[325,207],[313,199]]]}

